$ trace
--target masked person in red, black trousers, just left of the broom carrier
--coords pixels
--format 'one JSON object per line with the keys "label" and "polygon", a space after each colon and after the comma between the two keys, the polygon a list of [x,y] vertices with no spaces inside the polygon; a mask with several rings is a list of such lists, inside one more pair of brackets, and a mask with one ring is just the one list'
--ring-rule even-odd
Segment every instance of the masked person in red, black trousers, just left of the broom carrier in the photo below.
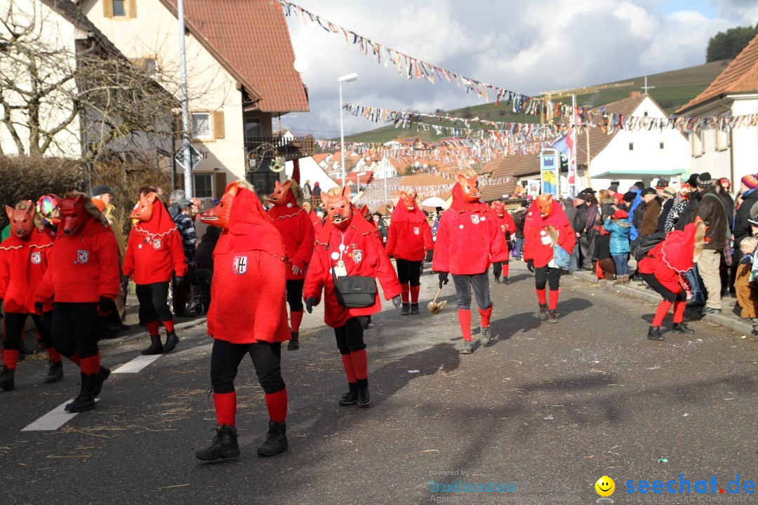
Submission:
{"label": "masked person in red, black trousers, just left of the broom carrier", "polygon": [[418,314],[418,290],[421,288],[421,265],[431,257],[434,244],[426,215],[416,202],[415,192],[400,192],[392,213],[387,238],[387,254],[395,257],[397,278],[402,288],[402,316]]}

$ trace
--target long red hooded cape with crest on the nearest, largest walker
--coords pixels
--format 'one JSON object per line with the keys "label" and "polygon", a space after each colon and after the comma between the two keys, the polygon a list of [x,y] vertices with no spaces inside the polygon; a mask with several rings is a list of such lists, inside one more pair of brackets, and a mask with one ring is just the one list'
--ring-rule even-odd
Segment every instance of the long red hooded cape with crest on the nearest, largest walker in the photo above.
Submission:
{"label": "long red hooded cape with crest on the nearest, largest walker", "polygon": [[284,259],[281,236],[258,197],[240,189],[213,251],[208,335],[233,344],[289,340]]}

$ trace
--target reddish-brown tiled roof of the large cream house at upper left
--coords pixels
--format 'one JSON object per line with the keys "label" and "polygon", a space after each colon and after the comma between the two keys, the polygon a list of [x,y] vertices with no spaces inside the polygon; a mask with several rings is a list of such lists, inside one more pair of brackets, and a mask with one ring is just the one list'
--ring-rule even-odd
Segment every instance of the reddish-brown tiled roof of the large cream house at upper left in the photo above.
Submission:
{"label": "reddish-brown tiled roof of the large cream house at upper left", "polygon": [[[177,0],[161,0],[176,14]],[[186,26],[263,112],[308,111],[280,8],[270,0],[185,0]]]}

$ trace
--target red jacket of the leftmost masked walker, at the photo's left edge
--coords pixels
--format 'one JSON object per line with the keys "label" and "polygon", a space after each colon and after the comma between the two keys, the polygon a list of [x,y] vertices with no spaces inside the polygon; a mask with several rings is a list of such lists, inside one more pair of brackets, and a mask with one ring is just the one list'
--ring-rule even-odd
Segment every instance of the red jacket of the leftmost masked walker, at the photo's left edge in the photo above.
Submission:
{"label": "red jacket of the leftmost masked walker, at the photo's left edge", "polygon": [[[5,301],[5,312],[34,312],[34,295],[51,252],[50,235],[36,227],[26,239],[11,235],[0,244],[0,300]],[[52,302],[43,310],[52,310]]]}

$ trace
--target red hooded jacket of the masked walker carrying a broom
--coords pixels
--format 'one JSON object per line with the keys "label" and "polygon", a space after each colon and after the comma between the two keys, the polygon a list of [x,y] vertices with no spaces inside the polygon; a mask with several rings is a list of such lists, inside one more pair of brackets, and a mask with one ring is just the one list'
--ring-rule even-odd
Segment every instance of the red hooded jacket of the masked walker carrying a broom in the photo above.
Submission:
{"label": "red hooded jacket of the masked walker carrying a broom", "polygon": [[484,273],[508,259],[508,245],[492,208],[463,199],[460,184],[453,186],[453,204],[440,217],[432,270],[455,275]]}

